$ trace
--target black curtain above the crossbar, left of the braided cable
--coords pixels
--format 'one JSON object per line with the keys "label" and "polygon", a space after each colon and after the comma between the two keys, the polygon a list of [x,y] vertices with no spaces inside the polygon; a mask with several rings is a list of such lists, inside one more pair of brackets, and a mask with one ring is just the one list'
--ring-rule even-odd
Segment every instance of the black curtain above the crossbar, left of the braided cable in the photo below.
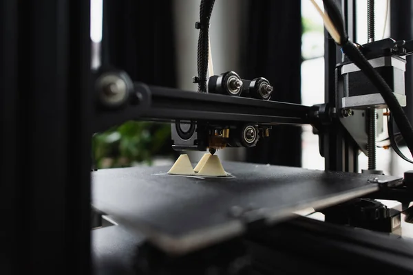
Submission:
{"label": "black curtain above the crossbar, left of the braided cable", "polygon": [[176,87],[173,0],[103,0],[103,63]]}

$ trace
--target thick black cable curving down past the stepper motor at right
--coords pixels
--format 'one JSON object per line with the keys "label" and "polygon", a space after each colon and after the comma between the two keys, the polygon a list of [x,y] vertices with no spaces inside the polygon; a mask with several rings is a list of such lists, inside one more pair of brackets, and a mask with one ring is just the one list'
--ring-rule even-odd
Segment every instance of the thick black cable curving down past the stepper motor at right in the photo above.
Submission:
{"label": "thick black cable curving down past the stepper motor at right", "polygon": [[[337,29],[334,25],[330,25],[331,20],[329,20],[328,15],[324,14],[321,11],[314,0],[311,0],[311,2],[313,3],[313,5],[315,5],[315,8],[323,18],[327,31],[330,33],[335,42],[338,45],[341,45],[341,50],[343,51],[343,53],[348,56],[350,61],[352,61],[355,65],[357,65],[357,67],[359,67],[361,72],[363,72],[367,76],[374,87],[379,90],[385,103],[388,105],[388,108],[392,112],[394,121],[399,126],[401,135],[403,136],[403,139],[405,140],[410,153],[412,153],[413,155],[413,128],[409,120],[407,119],[405,112],[401,108],[399,101],[397,100],[396,96],[394,96],[392,89],[390,89],[388,83],[386,83],[381,75],[372,67],[372,65],[366,59],[366,56],[364,56],[360,52],[359,48],[348,40],[346,32],[343,33],[343,36],[340,36],[337,39]],[[332,7],[332,0],[324,0],[324,4],[326,5],[326,7]],[[331,14],[333,17],[335,17],[335,22],[343,22],[343,17],[341,17],[341,14],[335,12],[331,12]]]}

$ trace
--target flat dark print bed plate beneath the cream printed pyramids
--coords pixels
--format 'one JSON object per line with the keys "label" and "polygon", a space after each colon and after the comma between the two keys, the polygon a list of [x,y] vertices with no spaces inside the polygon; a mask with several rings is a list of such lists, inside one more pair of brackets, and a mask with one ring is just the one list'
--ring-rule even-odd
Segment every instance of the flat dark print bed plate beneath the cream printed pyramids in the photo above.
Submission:
{"label": "flat dark print bed plate beneath the cream printed pyramids", "polygon": [[[156,175],[169,166],[97,170],[92,205],[158,248],[184,254],[219,243],[293,211],[322,208],[399,184],[400,177],[223,162],[233,178]],[[377,178],[379,184],[372,183]]]}

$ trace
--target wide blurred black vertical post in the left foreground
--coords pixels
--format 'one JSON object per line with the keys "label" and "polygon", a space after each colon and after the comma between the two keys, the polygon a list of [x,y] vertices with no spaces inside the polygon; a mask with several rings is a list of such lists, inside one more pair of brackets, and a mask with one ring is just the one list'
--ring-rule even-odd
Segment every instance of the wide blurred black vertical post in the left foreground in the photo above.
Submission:
{"label": "wide blurred black vertical post in the left foreground", "polygon": [[90,3],[0,5],[2,272],[89,274]]}

